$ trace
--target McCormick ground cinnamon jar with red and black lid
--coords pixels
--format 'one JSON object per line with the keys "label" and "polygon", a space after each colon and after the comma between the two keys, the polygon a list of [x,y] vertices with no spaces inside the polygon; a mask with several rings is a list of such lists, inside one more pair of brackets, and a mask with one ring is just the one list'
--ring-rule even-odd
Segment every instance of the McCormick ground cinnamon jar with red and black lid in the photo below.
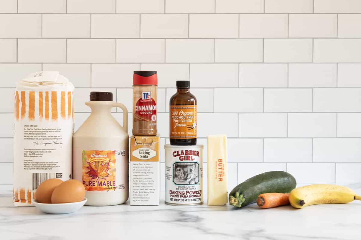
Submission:
{"label": "McCormick ground cinnamon jar with red and black lid", "polygon": [[157,71],[134,71],[133,135],[157,135]]}

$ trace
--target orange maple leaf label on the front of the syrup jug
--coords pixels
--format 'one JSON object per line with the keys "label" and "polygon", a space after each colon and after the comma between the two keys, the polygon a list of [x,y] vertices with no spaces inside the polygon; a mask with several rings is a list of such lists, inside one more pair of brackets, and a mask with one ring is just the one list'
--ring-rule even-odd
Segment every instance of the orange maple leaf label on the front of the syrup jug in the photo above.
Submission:
{"label": "orange maple leaf label on the front of the syrup jug", "polygon": [[115,151],[83,150],[83,185],[87,191],[116,189]]}

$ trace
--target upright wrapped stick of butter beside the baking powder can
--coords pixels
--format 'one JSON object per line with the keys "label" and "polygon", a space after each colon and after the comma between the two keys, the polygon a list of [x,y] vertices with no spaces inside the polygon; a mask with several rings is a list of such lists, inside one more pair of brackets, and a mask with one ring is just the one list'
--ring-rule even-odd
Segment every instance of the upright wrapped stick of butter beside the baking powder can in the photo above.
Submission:
{"label": "upright wrapped stick of butter beside the baking powder can", "polygon": [[207,135],[207,205],[227,203],[227,136]]}

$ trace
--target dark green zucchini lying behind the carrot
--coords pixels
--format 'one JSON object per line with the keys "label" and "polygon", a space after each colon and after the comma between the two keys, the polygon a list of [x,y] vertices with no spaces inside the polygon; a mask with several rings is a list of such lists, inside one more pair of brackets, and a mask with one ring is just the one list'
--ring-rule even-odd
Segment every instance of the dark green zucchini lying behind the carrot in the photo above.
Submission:
{"label": "dark green zucchini lying behind the carrot", "polygon": [[229,194],[229,204],[244,207],[255,203],[262,193],[290,193],[296,187],[296,179],[287,172],[272,171],[256,175],[237,185]]}

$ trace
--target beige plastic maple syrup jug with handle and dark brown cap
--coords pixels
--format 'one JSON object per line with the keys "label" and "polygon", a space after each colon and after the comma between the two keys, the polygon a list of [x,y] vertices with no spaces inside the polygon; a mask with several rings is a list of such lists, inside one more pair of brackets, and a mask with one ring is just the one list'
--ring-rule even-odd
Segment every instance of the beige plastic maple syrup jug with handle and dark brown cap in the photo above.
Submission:
{"label": "beige plastic maple syrup jug with handle and dark brown cap", "polygon": [[[73,177],[86,189],[85,205],[125,203],[129,196],[128,111],[113,102],[111,92],[91,92],[85,104],[91,114],[73,136]],[[123,126],[110,114],[112,107],[123,110]]]}

